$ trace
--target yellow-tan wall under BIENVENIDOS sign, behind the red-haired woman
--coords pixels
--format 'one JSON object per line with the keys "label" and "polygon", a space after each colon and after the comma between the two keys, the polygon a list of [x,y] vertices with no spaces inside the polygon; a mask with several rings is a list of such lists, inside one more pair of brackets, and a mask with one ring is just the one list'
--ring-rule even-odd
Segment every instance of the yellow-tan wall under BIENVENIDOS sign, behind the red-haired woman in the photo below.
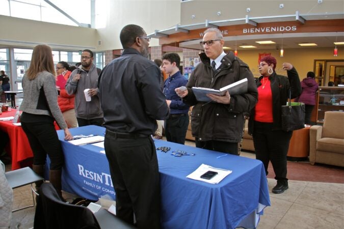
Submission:
{"label": "yellow-tan wall under BIENVENIDOS sign, behind the red-haired woman", "polygon": [[279,50],[239,50],[238,56],[250,66],[253,75],[258,77],[258,53],[271,52],[271,55],[277,60],[276,72],[278,74],[286,75],[286,72],[281,69],[281,65],[283,62],[289,62],[297,69],[300,79],[303,79],[307,72],[313,71],[314,60],[344,60],[344,47],[337,47],[337,57],[333,56],[333,48],[285,49],[283,58],[280,57]]}

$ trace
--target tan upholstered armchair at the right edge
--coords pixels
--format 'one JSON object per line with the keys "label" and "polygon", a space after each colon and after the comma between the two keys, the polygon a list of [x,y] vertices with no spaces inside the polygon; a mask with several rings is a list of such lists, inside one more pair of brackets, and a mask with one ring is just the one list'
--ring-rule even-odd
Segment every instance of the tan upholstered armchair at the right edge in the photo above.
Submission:
{"label": "tan upholstered armchair at the right edge", "polygon": [[323,126],[309,130],[309,162],[344,167],[344,112],[326,111]]}

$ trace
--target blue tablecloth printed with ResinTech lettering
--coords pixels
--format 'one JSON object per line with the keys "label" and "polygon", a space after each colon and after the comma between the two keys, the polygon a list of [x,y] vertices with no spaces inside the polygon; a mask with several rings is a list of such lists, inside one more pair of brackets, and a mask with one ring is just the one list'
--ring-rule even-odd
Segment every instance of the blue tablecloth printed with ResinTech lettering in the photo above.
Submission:
{"label": "blue tablecloth printed with ResinTech lettering", "polygon": [[[105,129],[86,126],[70,129],[73,135],[103,135]],[[97,200],[104,194],[114,196],[108,160],[102,148],[74,146],[63,140],[65,155],[63,190]],[[157,151],[162,194],[163,228],[235,228],[254,227],[259,215],[270,206],[264,166],[258,160],[155,140],[156,148],[166,146],[167,153]],[[174,157],[182,150],[195,156]],[[186,178],[202,163],[232,170],[219,184],[208,184]],[[133,168],[135,169],[135,168]]]}

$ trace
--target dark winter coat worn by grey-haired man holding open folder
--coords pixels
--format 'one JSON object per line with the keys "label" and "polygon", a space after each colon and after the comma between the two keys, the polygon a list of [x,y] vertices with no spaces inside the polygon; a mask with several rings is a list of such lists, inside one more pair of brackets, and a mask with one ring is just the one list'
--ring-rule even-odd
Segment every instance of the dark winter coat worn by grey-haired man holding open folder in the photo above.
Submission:
{"label": "dark winter coat worn by grey-haired man holding open folder", "polygon": [[[187,84],[188,95],[183,102],[193,106],[191,113],[192,135],[200,141],[219,140],[239,142],[244,127],[244,113],[249,112],[257,102],[257,88],[254,77],[247,64],[229,52],[221,60],[221,66],[213,73],[210,60],[205,53],[200,55],[201,62],[192,72]],[[228,84],[248,79],[248,92],[231,96],[230,104],[205,103],[196,100],[192,87],[219,90]]]}

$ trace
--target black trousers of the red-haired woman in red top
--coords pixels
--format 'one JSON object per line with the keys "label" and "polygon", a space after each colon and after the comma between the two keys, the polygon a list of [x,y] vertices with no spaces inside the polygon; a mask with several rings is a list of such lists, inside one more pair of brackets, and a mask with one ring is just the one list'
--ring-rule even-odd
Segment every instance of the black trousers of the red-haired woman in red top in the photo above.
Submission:
{"label": "black trousers of the red-haired woman in red top", "polygon": [[276,180],[288,180],[286,155],[293,131],[272,130],[272,123],[254,122],[253,144],[256,159],[264,164],[268,175],[269,161],[275,171]]}

